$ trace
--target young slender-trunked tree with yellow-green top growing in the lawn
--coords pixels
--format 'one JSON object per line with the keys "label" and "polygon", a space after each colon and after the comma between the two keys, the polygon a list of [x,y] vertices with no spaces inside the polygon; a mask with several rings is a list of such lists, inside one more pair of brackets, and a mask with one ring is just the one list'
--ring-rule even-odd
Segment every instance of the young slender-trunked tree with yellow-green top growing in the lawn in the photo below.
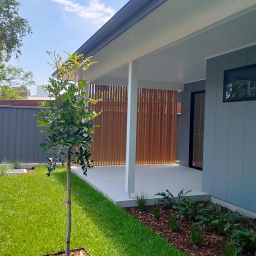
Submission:
{"label": "young slender-trunked tree with yellow-green top growing in the lawn", "polygon": [[[49,134],[45,143],[40,145],[44,151],[52,152],[53,157],[48,158],[48,173],[55,169],[56,161],[66,162],[66,185],[67,197],[66,203],[66,243],[65,256],[69,256],[70,231],[71,231],[71,198],[70,198],[70,164],[77,163],[81,165],[83,174],[86,175],[87,168],[93,167],[93,160],[90,159],[90,143],[93,132],[97,125],[92,124],[92,120],[100,113],[90,111],[88,104],[95,104],[97,100],[85,98],[85,86],[87,81],[82,77],[82,71],[85,71],[96,61],[91,57],[84,58],[83,54],[68,54],[65,62],[55,53],[47,51],[52,58],[53,67],[57,69],[58,79],[49,78],[49,84],[45,89],[50,97],[55,100],[40,103],[41,107],[46,107],[39,112],[43,117],[38,120],[40,126],[44,129],[41,132]],[[78,72],[81,72],[81,78],[78,82],[75,80]],[[75,150],[78,147],[79,150]]]}

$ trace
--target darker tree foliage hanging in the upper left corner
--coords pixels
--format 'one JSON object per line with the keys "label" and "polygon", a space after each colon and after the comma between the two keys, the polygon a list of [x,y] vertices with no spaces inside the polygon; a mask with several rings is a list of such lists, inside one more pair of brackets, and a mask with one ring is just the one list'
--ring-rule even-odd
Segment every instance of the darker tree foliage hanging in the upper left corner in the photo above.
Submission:
{"label": "darker tree foliage hanging in the upper left corner", "polygon": [[19,5],[16,0],[0,0],[0,61],[12,54],[18,58],[23,37],[31,34],[28,21],[18,15]]}

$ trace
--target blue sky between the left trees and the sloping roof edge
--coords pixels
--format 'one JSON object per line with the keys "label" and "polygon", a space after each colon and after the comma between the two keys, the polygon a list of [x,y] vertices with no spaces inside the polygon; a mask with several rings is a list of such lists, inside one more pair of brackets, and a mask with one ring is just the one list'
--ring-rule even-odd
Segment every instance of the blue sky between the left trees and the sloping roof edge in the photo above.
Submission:
{"label": "blue sky between the left trees and the sloping roof edge", "polygon": [[[19,15],[32,27],[19,60],[10,64],[32,71],[37,85],[52,73],[45,50],[73,53],[128,0],[19,0]],[[35,88],[29,87],[31,94]]]}

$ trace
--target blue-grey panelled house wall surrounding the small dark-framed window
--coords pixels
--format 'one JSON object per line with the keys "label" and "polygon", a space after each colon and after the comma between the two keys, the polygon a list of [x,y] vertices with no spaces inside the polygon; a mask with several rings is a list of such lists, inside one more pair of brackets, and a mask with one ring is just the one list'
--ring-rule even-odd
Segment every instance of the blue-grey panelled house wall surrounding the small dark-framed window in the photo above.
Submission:
{"label": "blue-grey panelled house wall surrounding the small dark-framed window", "polygon": [[203,191],[256,211],[256,100],[222,102],[223,71],[256,63],[256,46],[207,60]]}

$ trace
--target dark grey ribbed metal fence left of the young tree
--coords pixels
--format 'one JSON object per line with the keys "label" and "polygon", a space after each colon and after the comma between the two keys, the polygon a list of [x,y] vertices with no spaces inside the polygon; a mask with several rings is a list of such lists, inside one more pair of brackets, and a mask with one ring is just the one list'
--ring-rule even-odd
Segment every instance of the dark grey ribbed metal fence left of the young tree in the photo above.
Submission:
{"label": "dark grey ribbed metal fence left of the young tree", "polygon": [[45,162],[40,143],[46,138],[36,126],[40,108],[0,106],[0,161]]}

